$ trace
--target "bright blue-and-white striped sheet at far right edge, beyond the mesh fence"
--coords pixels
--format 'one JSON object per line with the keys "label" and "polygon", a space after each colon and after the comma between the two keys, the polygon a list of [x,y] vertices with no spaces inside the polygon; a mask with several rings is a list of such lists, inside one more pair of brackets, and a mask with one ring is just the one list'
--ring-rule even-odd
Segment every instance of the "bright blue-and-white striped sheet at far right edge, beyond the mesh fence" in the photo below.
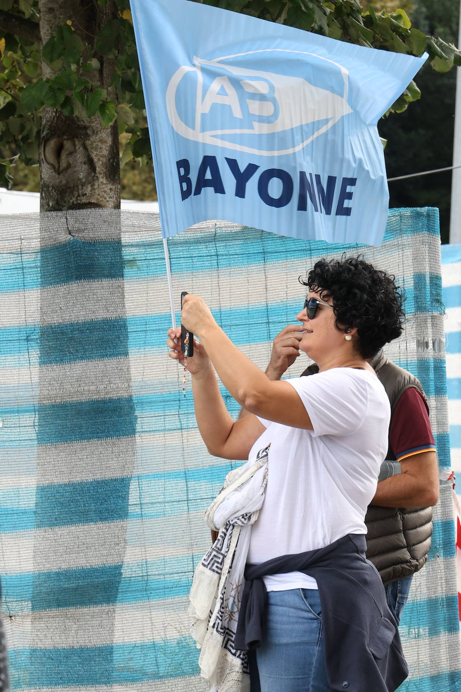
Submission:
{"label": "bright blue-and-white striped sheet at far right edge, beyond the mesh fence", "polygon": [[446,390],[449,404],[451,467],[461,500],[461,244],[442,245],[442,286],[446,309]]}

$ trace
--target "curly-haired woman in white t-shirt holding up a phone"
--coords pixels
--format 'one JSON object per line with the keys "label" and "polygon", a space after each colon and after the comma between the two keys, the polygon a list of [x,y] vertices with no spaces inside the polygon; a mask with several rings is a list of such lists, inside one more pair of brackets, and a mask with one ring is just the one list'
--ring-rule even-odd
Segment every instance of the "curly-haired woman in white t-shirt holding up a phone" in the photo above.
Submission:
{"label": "curly-haired woman in white t-shirt holding up a phone", "polygon": [[[304,328],[297,347],[319,365],[319,373],[310,377],[270,381],[229,340],[201,298],[185,295],[182,305],[182,324],[199,339],[187,369],[198,428],[209,452],[226,459],[252,459],[270,444],[265,500],[247,555],[247,565],[256,566],[256,572],[266,563],[269,570],[261,576],[267,602],[261,646],[256,649],[257,671],[254,665],[250,668],[252,692],[327,692],[349,685],[367,690],[375,683],[338,682],[334,651],[341,642],[335,643],[330,610],[341,604],[328,600],[328,580],[335,561],[338,566],[347,563],[349,551],[354,569],[359,564],[359,576],[352,579],[348,574],[348,583],[370,579],[375,584],[374,567],[363,554],[364,517],[386,456],[390,408],[367,361],[401,334],[402,295],[394,277],[360,257],[320,260],[303,283],[308,294],[297,314]],[[167,345],[169,356],[183,363],[179,337],[180,328],[169,329]],[[232,419],[215,369],[250,415]],[[312,570],[313,552],[321,549],[319,555],[324,556],[330,547],[328,574],[319,571],[320,563]],[[283,561],[277,562],[281,556]],[[308,556],[308,563],[303,563],[303,556]],[[280,565],[286,570],[280,571]],[[378,596],[379,590],[384,594],[380,580],[373,588]],[[361,607],[354,589],[348,594],[352,611]],[[324,626],[321,601],[324,606],[328,602]],[[386,623],[379,628],[379,646],[371,641],[373,635],[369,637],[377,668],[382,651],[399,646],[398,633],[390,631],[392,616],[380,612]],[[361,646],[351,641],[352,648]],[[351,653],[352,660],[356,654]],[[406,677],[404,661],[399,666],[395,686],[391,665],[382,673],[384,686],[376,689],[396,689]]]}

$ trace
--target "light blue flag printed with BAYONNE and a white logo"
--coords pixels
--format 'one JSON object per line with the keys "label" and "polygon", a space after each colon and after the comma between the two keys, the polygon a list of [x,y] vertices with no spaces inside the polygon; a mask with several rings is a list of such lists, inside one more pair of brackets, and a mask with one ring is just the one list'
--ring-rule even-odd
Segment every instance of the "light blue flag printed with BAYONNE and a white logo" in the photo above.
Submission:
{"label": "light blue flag printed with BAYONNE and a white logo", "polygon": [[377,120],[427,55],[187,0],[131,0],[164,237],[223,219],[379,245]]}

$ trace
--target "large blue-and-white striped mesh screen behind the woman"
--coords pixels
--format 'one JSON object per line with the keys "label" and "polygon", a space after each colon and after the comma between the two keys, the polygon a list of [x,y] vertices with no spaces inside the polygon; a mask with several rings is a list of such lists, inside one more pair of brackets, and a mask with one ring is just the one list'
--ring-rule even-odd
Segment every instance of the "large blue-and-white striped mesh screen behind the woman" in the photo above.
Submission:
{"label": "large blue-and-white striped mesh screen behind the woman", "polygon": [[[202,295],[261,367],[303,304],[298,276],[317,257],[358,248],[393,271],[408,319],[388,355],[421,379],[449,466],[436,210],[393,210],[380,248],[211,222],[169,248],[178,304],[182,290]],[[3,217],[0,263],[0,574],[12,689],[205,690],[187,592],[209,546],[203,511],[241,462],[207,453],[190,385],[183,397],[182,371],[166,356],[158,217]],[[431,560],[402,620],[405,692],[461,684],[450,493],[442,487]]]}

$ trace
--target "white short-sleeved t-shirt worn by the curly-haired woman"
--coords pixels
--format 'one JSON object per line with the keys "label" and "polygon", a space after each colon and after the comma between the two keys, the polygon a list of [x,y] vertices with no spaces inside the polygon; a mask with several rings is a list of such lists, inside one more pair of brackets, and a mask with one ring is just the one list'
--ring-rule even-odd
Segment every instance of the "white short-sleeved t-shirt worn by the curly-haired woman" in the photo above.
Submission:
{"label": "white short-sleeved t-shirt worn by the curly-haired woman", "polygon": [[[266,430],[249,458],[271,444],[265,500],[252,527],[247,560],[322,548],[366,534],[366,509],[388,448],[391,407],[373,372],[336,367],[286,380],[297,390],[313,430],[261,419]],[[269,591],[317,588],[302,572],[264,577]]]}

